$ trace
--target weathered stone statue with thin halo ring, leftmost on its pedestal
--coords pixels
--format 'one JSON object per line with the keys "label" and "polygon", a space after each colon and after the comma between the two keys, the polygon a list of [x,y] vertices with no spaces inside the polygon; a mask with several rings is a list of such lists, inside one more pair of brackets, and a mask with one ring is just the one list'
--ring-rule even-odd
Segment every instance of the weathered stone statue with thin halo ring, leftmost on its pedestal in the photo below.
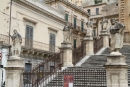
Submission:
{"label": "weathered stone statue with thin halo ring, leftmost on its pedestal", "polygon": [[12,47],[11,47],[12,56],[18,57],[20,56],[21,52],[22,37],[17,32],[16,29],[13,30],[13,35],[11,36],[11,39],[12,39]]}

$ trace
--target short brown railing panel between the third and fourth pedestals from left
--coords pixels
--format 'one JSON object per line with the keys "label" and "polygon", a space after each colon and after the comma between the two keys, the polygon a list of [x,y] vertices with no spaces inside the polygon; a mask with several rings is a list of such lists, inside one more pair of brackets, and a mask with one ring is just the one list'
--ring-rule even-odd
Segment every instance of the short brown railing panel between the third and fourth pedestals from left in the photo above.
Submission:
{"label": "short brown railing panel between the third and fourth pedestals from left", "polygon": [[103,48],[103,37],[94,41],[94,53]]}

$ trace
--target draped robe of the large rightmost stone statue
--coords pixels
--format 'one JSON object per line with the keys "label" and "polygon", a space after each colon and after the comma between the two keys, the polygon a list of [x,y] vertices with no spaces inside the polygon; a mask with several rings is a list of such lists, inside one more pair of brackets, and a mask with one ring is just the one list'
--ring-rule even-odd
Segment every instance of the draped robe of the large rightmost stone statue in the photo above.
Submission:
{"label": "draped robe of the large rightmost stone statue", "polygon": [[[114,29],[119,29],[118,31],[114,31]],[[113,30],[112,30],[113,29]],[[116,49],[120,49],[123,46],[123,25],[120,24],[120,26],[111,25],[110,32],[113,31],[113,34],[111,33],[111,51],[115,51]]]}

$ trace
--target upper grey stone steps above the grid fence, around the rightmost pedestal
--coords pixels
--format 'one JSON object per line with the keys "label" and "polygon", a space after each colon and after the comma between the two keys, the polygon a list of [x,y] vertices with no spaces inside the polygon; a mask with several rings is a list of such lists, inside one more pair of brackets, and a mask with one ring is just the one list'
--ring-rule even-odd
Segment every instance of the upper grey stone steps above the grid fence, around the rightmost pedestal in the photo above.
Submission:
{"label": "upper grey stone steps above the grid fence, around the rightmost pedestal", "polygon": [[[128,86],[130,87],[130,46],[123,46],[120,52],[126,56],[126,63],[128,65]],[[86,60],[82,66],[83,67],[103,67],[107,62],[106,55],[110,54],[110,49],[107,48],[101,55],[92,55],[88,60]]]}

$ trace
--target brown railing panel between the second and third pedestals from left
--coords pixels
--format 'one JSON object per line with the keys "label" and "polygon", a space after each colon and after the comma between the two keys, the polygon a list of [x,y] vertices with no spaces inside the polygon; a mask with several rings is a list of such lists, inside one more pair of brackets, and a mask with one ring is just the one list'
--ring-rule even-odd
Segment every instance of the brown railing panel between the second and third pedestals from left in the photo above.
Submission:
{"label": "brown railing panel between the second and third pedestals from left", "polygon": [[73,50],[73,64],[76,65],[82,58],[86,56],[86,44],[83,43],[80,47]]}

